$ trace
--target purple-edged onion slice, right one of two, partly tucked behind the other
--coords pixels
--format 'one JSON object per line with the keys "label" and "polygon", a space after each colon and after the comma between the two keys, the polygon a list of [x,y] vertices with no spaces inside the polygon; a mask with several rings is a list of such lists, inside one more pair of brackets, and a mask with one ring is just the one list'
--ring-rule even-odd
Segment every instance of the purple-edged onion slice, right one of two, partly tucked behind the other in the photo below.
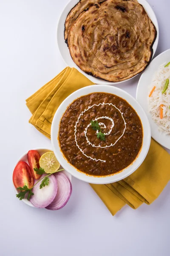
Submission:
{"label": "purple-edged onion slice, right one of two, partly tucked behind the other", "polygon": [[46,207],[48,210],[59,210],[64,207],[70,199],[72,192],[71,182],[64,173],[55,173],[54,176],[58,185],[57,195],[52,203]]}

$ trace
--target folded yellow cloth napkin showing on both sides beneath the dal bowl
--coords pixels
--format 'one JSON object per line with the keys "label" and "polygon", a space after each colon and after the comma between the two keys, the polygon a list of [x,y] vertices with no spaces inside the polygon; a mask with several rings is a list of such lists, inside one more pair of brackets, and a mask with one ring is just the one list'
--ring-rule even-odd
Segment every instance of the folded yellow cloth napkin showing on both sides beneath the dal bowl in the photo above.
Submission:
{"label": "folded yellow cloth napkin showing on both sides beneath the dal bowl", "polygon": [[[32,113],[29,122],[50,139],[51,122],[61,102],[74,91],[91,84],[94,83],[78,70],[66,67],[26,99],[26,105]],[[151,204],[169,180],[170,154],[152,139],[147,157],[132,175],[107,185],[90,185],[111,214],[115,215],[125,204],[133,209],[142,203]]]}

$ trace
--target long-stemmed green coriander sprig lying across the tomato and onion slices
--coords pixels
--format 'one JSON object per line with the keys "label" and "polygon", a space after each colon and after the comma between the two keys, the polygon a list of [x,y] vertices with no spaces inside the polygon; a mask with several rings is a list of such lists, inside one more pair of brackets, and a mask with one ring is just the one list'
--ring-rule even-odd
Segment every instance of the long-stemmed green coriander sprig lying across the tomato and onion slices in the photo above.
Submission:
{"label": "long-stemmed green coriander sprig lying across the tomato and onion slices", "polygon": [[[48,174],[48,175],[42,177],[42,178],[40,179],[40,180],[42,180],[42,182],[40,183],[40,189],[42,189],[42,188],[45,187],[45,186],[48,186],[49,181],[50,181],[49,178],[48,178],[48,176],[50,176],[51,174],[54,174],[54,173],[56,173],[56,172],[63,171],[63,170],[64,170],[64,169],[60,169],[60,170],[57,170],[57,171],[55,171],[55,172],[51,172],[50,174]],[[37,174],[40,174],[40,175],[41,175],[41,174],[45,174],[44,169],[42,169],[41,167],[40,167],[39,169],[38,169],[38,168],[34,169],[34,171],[37,172]],[[40,182],[40,180],[38,180],[38,181],[34,184],[34,186],[35,186],[38,182]],[[26,185],[24,185],[23,187],[17,187],[17,190],[20,190],[20,193],[18,193],[18,194],[16,195],[16,197],[19,198],[20,200],[22,200],[22,199],[25,198],[26,193],[28,193],[27,200],[29,201],[31,195],[34,195],[34,193],[32,192],[32,189],[34,188],[34,186],[32,186],[31,189],[28,189],[28,186],[26,186]]]}

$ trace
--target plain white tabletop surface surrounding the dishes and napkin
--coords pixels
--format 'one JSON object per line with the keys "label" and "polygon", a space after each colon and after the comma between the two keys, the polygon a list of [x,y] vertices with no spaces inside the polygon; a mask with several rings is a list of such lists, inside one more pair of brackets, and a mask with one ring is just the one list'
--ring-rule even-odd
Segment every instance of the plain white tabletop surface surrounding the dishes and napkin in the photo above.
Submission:
{"label": "plain white tabletop surface surrounding the dishes and napkin", "polygon": [[[159,198],[111,213],[87,183],[73,178],[59,211],[28,207],[12,186],[18,158],[51,142],[28,124],[25,99],[65,64],[56,44],[68,0],[0,0],[0,256],[169,256],[170,183]],[[160,28],[156,55],[170,48],[169,0],[148,0]],[[139,76],[119,87],[133,96]],[[161,171],[161,170],[160,170]]]}

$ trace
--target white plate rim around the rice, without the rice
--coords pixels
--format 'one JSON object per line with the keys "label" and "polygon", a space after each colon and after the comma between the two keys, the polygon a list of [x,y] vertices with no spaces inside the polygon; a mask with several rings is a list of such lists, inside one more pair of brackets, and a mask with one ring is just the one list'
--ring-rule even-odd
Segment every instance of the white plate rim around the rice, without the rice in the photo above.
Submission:
{"label": "white plate rim around the rice, without the rice", "polygon": [[158,70],[159,66],[164,64],[164,62],[170,62],[170,49],[162,52],[160,55],[154,58],[154,60],[147,67],[146,71],[142,74],[137,86],[136,99],[147,114],[153,139],[165,148],[170,149],[170,135],[165,135],[164,132],[159,131],[159,126],[153,121],[147,105],[147,97],[149,95],[148,86],[152,81],[154,73]]}

